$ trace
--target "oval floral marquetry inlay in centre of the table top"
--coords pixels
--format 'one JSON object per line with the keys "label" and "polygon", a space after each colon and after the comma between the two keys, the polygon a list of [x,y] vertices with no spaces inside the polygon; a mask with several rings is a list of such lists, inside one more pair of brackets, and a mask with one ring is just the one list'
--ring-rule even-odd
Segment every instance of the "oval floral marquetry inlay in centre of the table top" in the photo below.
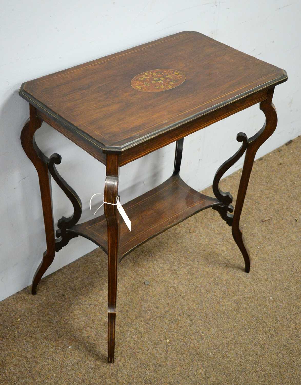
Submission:
{"label": "oval floral marquetry inlay in centre of the table top", "polygon": [[131,80],[131,86],[138,91],[160,92],[178,87],[184,80],[183,72],[164,68],[136,75]]}

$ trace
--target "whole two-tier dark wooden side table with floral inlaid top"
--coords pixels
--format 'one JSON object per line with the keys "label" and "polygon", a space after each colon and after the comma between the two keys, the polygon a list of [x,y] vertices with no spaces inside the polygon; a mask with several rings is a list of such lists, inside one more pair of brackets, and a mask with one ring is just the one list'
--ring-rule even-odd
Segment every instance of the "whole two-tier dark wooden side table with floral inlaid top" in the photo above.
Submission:
{"label": "whole two-tier dark wooden side table with floral inlaid top", "polygon": [[[47,243],[33,277],[32,294],[55,253],[70,239],[81,235],[101,247],[108,254],[109,363],[114,362],[117,266],[141,243],[211,207],[231,226],[249,272],[250,257],[239,219],[256,151],[277,125],[274,87],[286,80],[286,71],[278,67],[201,33],[184,31],[22,84],[19,94],[30,104],[30,119],[22,129],[21,143],[38,172]],[[183,138],[257,103],[265,123],[249,139],[242,132],[237,134],[241,147],[213,178],[215,197],[183,182],[179,174]],[[103,215],[78,224],[82,205],[55,167],[61,156],[48,159],[35,142],[43,121],[106,166]],[[123,206],[132,221],[130,232],[115,205],[119,169],[172,142],[176,148],[171,177]],[[244,153],[234,210],[231,194],[220,190],[219,181]],[[58,221],[56,232],[50,175],[74,208],[70,218]]]}

